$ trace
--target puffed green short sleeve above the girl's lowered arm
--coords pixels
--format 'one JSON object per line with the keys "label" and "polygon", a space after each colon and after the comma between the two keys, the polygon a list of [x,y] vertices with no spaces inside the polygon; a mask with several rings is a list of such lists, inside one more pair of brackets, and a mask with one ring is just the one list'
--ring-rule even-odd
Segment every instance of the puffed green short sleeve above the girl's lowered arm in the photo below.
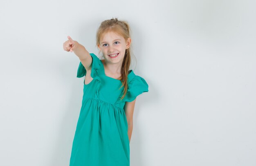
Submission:
{"label": "puffed green short sleeve above the girl's lowered arm", "polygon": [[148,83],[140,76],[134,76],[128,84],[128,90],[123,101],[134,101],[136,97],[143,93],[148,92]]}

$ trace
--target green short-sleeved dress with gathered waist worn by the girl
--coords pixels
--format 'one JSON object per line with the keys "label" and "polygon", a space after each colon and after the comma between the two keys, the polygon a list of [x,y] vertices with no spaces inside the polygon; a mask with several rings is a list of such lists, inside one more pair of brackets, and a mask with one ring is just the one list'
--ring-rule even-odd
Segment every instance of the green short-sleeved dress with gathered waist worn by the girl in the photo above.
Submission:
{"label": "green short-sleeved dress with gathered waist worn by the girl", "polygon": [[[127,102],[148,92],[146,81],[128,72],[128,91],[123,100],[121,81],[105,75],[103,63],[92,56],[93,80],[83,82],[83,100],[72,144],[70,166],[130,166],[128,123],[124,111]],[[77,76],[85,76],[80,62]],[[83,79],[83,81],[85,81]]]}

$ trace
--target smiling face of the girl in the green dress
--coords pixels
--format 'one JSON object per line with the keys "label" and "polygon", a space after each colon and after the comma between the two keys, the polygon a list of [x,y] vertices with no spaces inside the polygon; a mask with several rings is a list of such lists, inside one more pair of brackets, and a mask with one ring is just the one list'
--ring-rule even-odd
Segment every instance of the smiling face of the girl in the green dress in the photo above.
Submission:
{"label": "smiling face of the girl in the green dress", "polygon": [[98,44],[103,53],[105,61],[108,63],[122,63],[125,50],[130,47],[131,39],[124,39],[114,32],[107,32]]}

